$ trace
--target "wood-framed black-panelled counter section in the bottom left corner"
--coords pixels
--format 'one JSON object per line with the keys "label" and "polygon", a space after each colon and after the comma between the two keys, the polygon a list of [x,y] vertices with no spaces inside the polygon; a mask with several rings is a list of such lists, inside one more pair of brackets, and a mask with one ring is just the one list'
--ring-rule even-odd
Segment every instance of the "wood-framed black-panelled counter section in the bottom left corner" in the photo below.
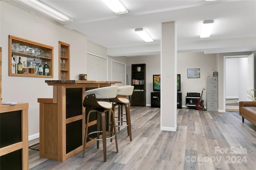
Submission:
{"label": "wood-framed black-panelled counter section in the bottom left corner", "polygon": [[0,169],[28,170],[28,103],[0,104]]}

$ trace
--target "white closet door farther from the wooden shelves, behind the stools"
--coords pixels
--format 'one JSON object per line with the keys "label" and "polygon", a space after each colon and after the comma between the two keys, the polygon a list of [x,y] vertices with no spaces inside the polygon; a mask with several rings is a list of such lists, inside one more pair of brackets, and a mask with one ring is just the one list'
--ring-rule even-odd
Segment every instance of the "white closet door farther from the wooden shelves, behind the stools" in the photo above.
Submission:
{"label": "white closet door farther from the wooden shelves, behind the stools", "polygon": [[111,80],[122,82],[122,84],[116,84],[118,86],[126,85],[126,64],[119,63],[117,61],[112,60],[111,65],[112,65]]}

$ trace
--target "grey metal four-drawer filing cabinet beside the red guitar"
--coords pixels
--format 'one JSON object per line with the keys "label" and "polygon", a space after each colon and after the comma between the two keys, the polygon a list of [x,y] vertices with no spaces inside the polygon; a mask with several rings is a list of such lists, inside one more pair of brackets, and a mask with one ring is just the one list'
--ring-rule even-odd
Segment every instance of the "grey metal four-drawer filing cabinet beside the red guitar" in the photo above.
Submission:
{"label": "grey metal four-drawer filing cabinet beside the red guitar", "polygon": [[218,77],[206,78],[206,107],[208,111],[218,111]]}

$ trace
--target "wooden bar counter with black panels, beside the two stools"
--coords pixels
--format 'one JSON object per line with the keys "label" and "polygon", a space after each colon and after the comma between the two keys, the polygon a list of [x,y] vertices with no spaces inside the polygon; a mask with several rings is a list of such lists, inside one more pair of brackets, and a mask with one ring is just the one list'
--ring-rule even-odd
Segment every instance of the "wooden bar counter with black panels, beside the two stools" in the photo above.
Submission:
{"label": "wooden bar counter with black panels, beside the two stools", "polygon": [[[53,98],[40,103],[40,157],[64,161],[83,150],[86,110],[84,92],[122,82],[87,80],[45,80],[53,86]],[[91,119],[91,118],[90,118]],[[90,121],[96,127],[96,120]],[[88,141],[90,145],[93,141]]]}

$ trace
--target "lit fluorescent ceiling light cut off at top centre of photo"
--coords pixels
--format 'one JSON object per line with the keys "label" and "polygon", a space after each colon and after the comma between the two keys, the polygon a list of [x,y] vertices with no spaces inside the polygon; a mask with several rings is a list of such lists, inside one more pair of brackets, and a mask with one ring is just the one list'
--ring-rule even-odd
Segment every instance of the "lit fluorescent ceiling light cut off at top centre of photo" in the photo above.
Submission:
{"label": "lit fluorescent ceiling light cut off at top centre of photo", "polygon": [[126,14],[128,10],[119,0],[101,0],[116,15]]}

